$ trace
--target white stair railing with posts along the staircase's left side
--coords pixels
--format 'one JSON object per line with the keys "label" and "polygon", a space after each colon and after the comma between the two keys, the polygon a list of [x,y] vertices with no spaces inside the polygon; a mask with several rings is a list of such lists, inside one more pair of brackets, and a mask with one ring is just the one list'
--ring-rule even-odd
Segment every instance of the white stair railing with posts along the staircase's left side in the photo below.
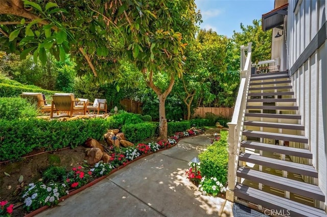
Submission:
{"label": "white stair railing with posts along the staircase's left side", "polygon": [[[241,83],[239,93],[236,99],[234,113],[231,122],[228,125],[228,186],[226,199],[234,201],[234,189],[236,185],[236,171],[238,167],[239,154],[242,142],[243,123],[246,111],[246,102],[251,75],[251,46],[241,46]],[[247,50],[247,56],[245,53]]]}

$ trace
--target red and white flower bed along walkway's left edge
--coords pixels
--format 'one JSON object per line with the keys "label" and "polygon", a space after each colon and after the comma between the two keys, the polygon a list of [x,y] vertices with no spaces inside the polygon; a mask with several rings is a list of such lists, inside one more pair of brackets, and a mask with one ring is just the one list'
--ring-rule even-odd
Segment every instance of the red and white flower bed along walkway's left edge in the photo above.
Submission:
{"label": "red and white flower bed along walkway's left edge", "polygon": [[[202,129],[191,129],[184,132],[176,132],[168,140],[160,140],[158,142],[150,142],[148,144],[139,143],[121,149],[113,149],[108,163],[98,162],[92,168],[74,167],[68,172],[63,181],[43,183],[42,181],[30,183],[22,192],[22,201],[27,211],[33,211],[28,216],[33,216],[47,207],[57,205],[65,198],[76,194],[88,186],[102,180],[107,175],[118,169],[125,167],[131,162],[147,156],[156,151],[165,150],[177,144],[178,140],[184,137],[197,135],[202,133]],[[10,215],[10,214],[8,214]]]}

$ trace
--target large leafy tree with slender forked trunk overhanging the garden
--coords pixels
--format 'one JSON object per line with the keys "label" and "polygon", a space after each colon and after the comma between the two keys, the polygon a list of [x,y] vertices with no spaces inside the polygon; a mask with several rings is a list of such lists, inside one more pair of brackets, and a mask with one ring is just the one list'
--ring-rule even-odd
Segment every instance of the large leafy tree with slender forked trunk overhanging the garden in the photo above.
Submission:
{"label": "large leafy tree with slender forked trunk overhanging the garden", "polygon": [[[62,61],[69,53],[78,72],[91,71],[106,81],[115,79],[119,60],[127,57],[159,98],[159,137],[167,138],[165,100],[175,77],[182,76],[185,40],[200,20],[195,8],[194,0],[4,0],[0,18],[11,24],[1,22],[0,44],[21,59],[33,52],[43,65],[47,52]],[[166,90],[154,85],[154,73],[169,75]]]}

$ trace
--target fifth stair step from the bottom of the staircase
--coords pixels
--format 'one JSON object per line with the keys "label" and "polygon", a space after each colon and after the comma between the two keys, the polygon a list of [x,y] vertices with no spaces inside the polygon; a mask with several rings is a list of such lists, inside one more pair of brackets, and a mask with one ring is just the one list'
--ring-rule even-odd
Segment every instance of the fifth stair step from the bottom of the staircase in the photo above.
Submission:
{"label": "fifth stair step from the bottom of the staircase", "polygon": [[261,132],[254,130],[243,130],[243,135],[247,137],[258,137],[258,138],[267,138],[274,140],[283,140],[289,142],[298,142],[298,143],[308,143],[308,138],[303,137],[303,135],[292,135],[292,134],[283,134],[275,132]]}

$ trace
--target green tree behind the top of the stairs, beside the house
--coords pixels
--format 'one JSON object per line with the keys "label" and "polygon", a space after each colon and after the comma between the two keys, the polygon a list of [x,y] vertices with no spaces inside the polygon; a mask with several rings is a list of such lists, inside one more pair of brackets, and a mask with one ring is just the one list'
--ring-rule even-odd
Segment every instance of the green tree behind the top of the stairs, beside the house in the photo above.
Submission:
{"label": "green tree behind the top of the stairs, beside the house", "polygon": [[272,31],[262,31],[262,20],[254,19],[253,25],[244,26],[241,23],[241,32],[234,31],[232,36],[233,41],[237,44],[238,48],[241,45],[247,45],[252,42],[252,62],[258,63],[262,60],[270,60],[271,58],[271,35]]}

